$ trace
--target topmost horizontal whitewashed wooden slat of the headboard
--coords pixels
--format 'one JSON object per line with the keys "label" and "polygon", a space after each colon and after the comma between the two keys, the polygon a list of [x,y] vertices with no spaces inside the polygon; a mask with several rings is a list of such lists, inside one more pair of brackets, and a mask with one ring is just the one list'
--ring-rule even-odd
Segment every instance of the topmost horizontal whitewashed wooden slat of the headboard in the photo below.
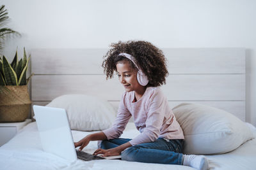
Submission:
{"label": "topmost horizontal whitewashed wooden slat of the headboard", "polygon": [[[35,74],[103,74],[108,49],[34,49]],[[170,74],[244,74],[244,48],[163,48]]]}

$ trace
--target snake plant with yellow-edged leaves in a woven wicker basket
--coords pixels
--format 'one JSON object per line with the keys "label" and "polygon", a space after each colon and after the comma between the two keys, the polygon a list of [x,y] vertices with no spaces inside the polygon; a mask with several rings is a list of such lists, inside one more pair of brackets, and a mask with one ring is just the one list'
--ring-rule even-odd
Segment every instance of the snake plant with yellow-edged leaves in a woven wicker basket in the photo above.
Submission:
{"label": "snake plant with yellow-edged leaves in a woven wicker basket", "polygon": [[0,92],[0,122],[23,122],[28,117],[31,101],[28,94],[26,78],[28,62],[24,48],[23,59],[18,62],[17,52],[12,63],[6,57],[0,57],[0,86],[8,91]]}

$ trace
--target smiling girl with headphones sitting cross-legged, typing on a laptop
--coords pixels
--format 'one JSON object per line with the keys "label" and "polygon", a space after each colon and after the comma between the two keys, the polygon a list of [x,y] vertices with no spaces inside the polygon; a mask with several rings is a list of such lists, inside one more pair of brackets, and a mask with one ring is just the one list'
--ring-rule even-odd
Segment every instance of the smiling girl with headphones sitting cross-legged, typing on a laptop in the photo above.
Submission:
{"label": "smiling girl with headphones sitting cross-legged, typing on a laptop", "polygon": [[[84,137],[75,146],[83,150],[90,141],[101,140],[94,155],[122,155],[122,160],[127,161],[207,169],[204,156],[182,154],[182,129],[159,89],[168,75],[163,52],[147,41],[119,41],[111,47],[102,67],[107,79],[116,71],[125,89],[115,123],[109,129]],[[141,134],[134,139],[119,138],[131,117]]]}

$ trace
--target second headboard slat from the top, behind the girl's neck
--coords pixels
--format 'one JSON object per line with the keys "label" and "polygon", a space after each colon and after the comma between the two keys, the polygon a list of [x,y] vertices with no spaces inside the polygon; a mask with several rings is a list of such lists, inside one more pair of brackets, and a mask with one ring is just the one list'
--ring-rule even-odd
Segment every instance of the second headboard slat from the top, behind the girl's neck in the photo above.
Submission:
{"label": "second headboard slat from the top, behind the girl's neck", "polygon": [[[170,75],[161,87],[170,101],[243,101],[244,75]],[[119,101],[124,87],[104,75],[35,75],[32,100],[51,101],[63,94],[88,94]]]}

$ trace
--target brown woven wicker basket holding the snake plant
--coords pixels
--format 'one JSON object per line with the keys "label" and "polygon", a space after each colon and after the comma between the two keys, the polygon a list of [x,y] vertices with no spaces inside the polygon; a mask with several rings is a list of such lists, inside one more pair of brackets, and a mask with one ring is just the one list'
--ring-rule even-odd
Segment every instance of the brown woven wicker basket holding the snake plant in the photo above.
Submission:
{"label": "brown woven wicker basket holding the snake plant", "polygon": [[5,87],[10,92],[0,94],[0,122],[23,122],[31,108],[28,86]]}

